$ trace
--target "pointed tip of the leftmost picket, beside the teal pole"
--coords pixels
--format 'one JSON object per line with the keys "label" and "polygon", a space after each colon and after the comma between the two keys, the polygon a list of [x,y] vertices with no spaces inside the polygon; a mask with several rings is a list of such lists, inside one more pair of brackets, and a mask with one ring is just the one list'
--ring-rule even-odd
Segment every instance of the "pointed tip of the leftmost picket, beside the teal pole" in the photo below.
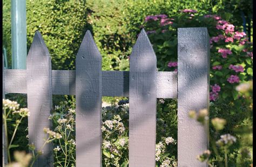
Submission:
{"label": "pointed tip of the leftmost picket, beside the teal pole", "polygon": [[35,36],[30,46],[27,62],[31,61],[30,57],[50,57],[49,50],[45,45],[44,39],[39,31],[35,32]]}

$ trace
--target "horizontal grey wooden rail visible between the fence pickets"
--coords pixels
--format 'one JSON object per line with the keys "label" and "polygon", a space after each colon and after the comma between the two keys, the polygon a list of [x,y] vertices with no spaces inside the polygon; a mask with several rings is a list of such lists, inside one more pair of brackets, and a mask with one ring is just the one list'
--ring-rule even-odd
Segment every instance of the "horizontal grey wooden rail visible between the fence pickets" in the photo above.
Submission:
{"label": "horizontal grey wooden rail visible between the fence pickets", "polygon": [[[177,72],[157,72],[157,98],[177,98]],[[26,70],[5,69],[7,93],[26,92]],[[129,71],[103,71],[102,95],[129,97]],[[52,94],[75,95],[76,71],[52,70]]]}

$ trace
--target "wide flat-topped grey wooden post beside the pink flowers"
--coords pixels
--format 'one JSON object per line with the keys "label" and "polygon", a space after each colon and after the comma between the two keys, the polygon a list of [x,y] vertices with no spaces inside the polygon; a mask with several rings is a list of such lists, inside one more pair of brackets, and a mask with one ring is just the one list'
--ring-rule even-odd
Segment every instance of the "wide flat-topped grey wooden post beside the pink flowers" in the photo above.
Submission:
{"label": "wide flat-topped grey wooden post beside the pink flowers", "polygon": [[208,134],[188,117],[209,110],[210,44],[206,27],[178,29],[178,166],[207,166],[196,157],[208,148]]}

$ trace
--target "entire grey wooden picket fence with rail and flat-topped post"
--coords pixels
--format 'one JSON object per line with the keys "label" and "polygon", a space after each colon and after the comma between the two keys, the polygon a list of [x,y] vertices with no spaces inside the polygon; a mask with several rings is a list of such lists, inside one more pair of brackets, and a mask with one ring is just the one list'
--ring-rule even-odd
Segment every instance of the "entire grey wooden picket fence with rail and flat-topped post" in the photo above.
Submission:
{"label": "entire grey wooden picket fence with rail and flat-topped post", "polygon": [[[178,29],[178,72],[158,72],[157,58],[142,30],[130,55],[129,71],[102,71],[102,56],[87,31],[76,70],[52,70],[37,31],[26,69],[3,68],[3,96],[28,95],[29,143],[43,144],[51,127],[52,95],[76,95],[76,166],[102,166],[102,96],[129,97],[129,166],[156,166],[157,98],[178,98],[178,166],[207,166],[196,156],[208,148],[208,134],[188,117],[209,107],[210,44],[206,27]],[[35,166],[53,166],[52,145]]]}

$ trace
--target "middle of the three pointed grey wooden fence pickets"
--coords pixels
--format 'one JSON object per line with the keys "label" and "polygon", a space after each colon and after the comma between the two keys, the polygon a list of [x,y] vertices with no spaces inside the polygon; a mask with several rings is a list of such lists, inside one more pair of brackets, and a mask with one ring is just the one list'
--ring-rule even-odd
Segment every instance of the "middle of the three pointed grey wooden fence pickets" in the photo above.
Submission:
{"label": "middle of the three pointed grey wooden fence pickets", "polygon": [[76,166],[102,163],[102,56],[87,31],[76,57]]}

